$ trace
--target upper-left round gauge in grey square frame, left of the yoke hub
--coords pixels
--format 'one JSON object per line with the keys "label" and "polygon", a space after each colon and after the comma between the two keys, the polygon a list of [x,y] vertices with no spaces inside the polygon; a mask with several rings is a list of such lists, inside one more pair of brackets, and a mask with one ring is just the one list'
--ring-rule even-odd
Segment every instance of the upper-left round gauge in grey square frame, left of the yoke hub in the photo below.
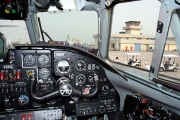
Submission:
{"label": "upper-left round gauge in grey square frame, left of the yoke hub", "polygon": [[25,55],[23,58],[23,62],[24,62],[24,65],[27,65],[27,66],[34,65],[36,62],[35,55],[32,55],[32,54]]}

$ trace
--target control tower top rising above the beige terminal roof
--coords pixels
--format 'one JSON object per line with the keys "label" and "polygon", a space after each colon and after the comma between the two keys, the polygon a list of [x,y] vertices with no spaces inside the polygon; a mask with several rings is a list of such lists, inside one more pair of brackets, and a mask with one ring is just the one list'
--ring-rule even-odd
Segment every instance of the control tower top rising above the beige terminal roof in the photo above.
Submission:
{"label": "control tower top rising above the beige terminal roof", "polygon": [[142,26],[140,25],[140,21],[128,21],[125,22],[126,26],[123,27],[123,30],[125,30],[125,34],[139,34],[140,30],[142,29]]}

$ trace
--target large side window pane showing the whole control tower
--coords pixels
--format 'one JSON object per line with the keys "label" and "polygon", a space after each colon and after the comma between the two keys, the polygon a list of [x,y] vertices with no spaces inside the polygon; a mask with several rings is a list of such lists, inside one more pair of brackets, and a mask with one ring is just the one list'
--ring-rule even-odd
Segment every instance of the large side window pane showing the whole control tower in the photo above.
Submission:
{"label": "large side window pane showing the whole control tower", "polygon": [[160,5],[158,0],[144,0],[114,7],[110,60],[149,69],[146,65],[150,65],[152,60]]}

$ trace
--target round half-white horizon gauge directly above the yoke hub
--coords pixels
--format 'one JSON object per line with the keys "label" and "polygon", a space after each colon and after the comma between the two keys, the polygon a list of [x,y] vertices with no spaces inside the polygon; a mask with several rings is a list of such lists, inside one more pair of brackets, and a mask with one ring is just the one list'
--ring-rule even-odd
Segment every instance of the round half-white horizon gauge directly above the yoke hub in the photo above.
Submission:
{"label": "round half-white horizon gauge directly above the yoke hub", "polygon": [[61,60],[57,64],[57,70],[60,73],[67,73],[70,70],[70,64],[66,60]]}

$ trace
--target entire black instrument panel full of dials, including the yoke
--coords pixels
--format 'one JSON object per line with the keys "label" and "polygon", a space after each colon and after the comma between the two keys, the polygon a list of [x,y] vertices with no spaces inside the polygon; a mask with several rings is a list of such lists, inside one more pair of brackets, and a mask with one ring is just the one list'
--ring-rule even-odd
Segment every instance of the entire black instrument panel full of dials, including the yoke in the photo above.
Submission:
{"label": "entire black instrument panel full of dials, including the yoke", "polygon": [[0,114],[48,107],[79,117],[117,112],[120,97],[104,65],[75,48],[11,49],[0,67]]}

